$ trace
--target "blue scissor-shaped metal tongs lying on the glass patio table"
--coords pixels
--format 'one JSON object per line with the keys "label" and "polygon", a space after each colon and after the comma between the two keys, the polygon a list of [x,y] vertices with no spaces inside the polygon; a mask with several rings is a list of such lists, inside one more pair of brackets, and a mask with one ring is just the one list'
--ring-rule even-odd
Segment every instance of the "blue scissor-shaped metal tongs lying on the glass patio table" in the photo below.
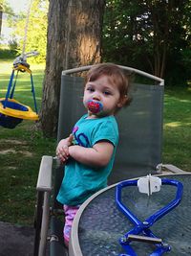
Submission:
{"label": "blue scissor-shaped metal tongs lying on the glass patio table", "polygon": [[[159,221],[164,215],[173,210],[180,204],[183,193],[183,185],[178,180],[172,180],[167,178],[161,178],[161,185],[172,185],[177,187],[177,193],[175,199],[170,201],[166,206],[162,207],[159,211],[148,217],[145,221],[139,221],[137,216],[134,215],[122,202],[121,202],[121,190],[127,186],[138,186],[138,179],[125,180],[117,184],[116,201],[117,208],[121,211],[135,227],[127,232],[119,240],[119,244],[124,248],[127,254],[120,254],[119,256],[137,256],[135,250],[130,245],[132,241],[151,243],[156,245],[156,250],[150,254],[150,256],[160,256],[163,253],[170,250],[168,244],[164,244],[161,239],[154,235],[149,229],[156,221]],[[141,234],[141,235],[139,235]]]}

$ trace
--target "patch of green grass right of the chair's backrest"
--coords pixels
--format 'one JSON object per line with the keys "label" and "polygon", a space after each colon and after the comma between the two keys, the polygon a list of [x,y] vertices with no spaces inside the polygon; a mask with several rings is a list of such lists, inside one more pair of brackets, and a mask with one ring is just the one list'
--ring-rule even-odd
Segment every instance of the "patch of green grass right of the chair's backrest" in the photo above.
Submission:
{"label": "patch of green grass right of the chair's backrest", "polygon": [[191,88],[165,90],[163,162],[191,172]]}

